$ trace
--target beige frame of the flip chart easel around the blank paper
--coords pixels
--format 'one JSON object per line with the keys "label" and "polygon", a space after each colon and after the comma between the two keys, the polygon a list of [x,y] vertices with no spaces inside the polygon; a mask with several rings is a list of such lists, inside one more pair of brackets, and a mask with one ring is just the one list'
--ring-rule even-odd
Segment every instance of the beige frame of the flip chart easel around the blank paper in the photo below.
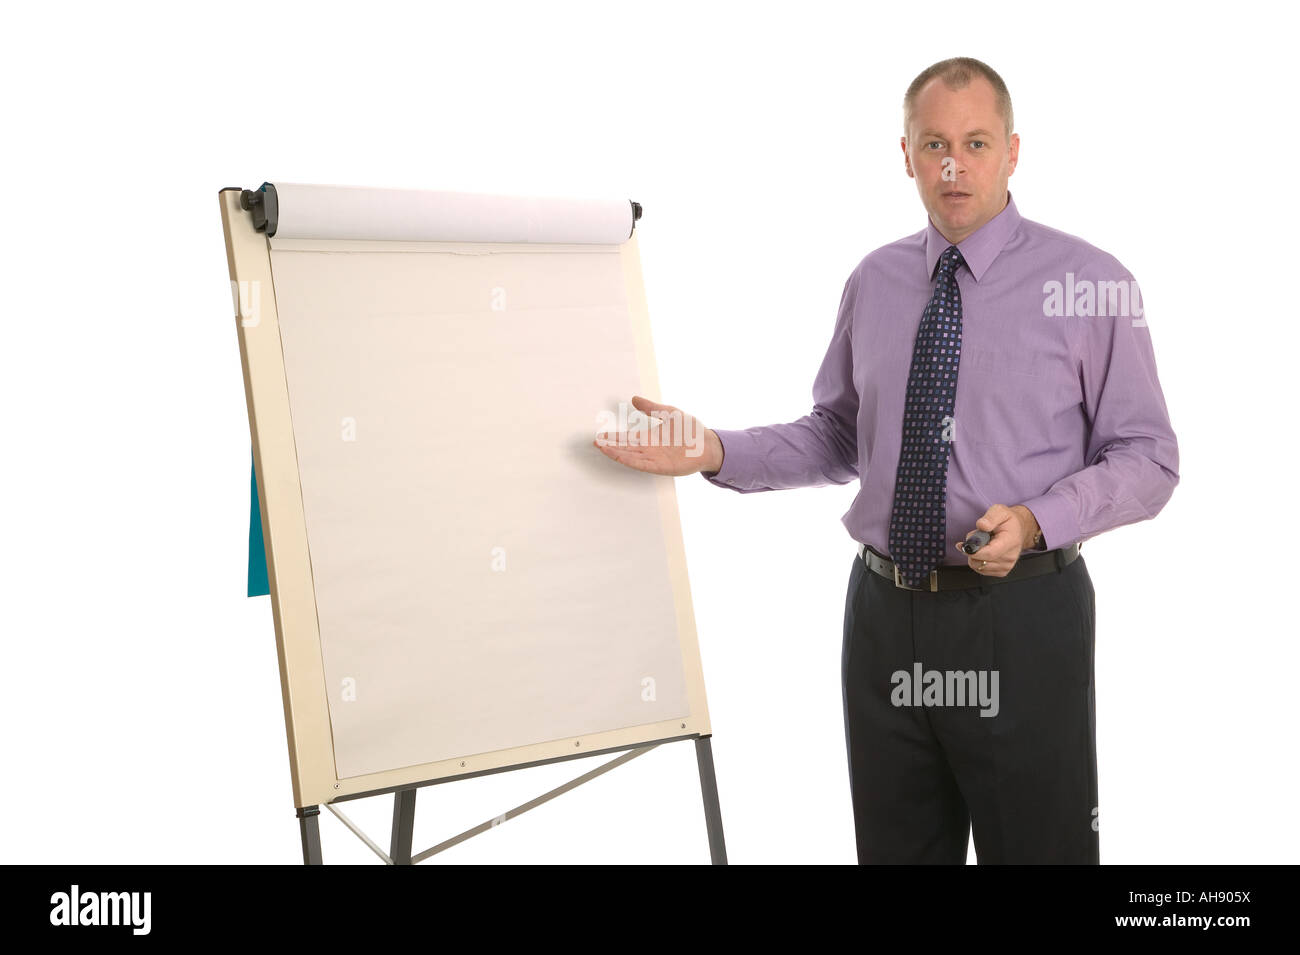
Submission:
{"label": "beige frame of the flip chart easel around the blank paper", "polygon": [[[640,755],[641,750],[653,748],[653,745],[692,738],[697,741],[714,860],[719,861],[720,851],[722,860],[725,860],[724,850],[722,850],[720,816],[716,811],[716,787],[712,781],[712,758],[708,750],[708,738],[711,737],[708,707],[705,698],[703,672],[694,626],[676,490],[671,479],[659,482],[659,512],[668,548],[681,661],[690,703],[688,717],[615,728],[581,738],[555,739],[494,752],[467,754],[437,763],[338,778],[334,767],[325,668],[307,544],[307,524],[290,420],[289,386],[276,312],[270,246],[266,235],[254,227],[252,214],[240,207],[239,188],[221,190],[218,197],[235,300],[239,356],[248,404],[254,466],[260,491],[270,605],[280,657],[290,776],[292,778],[294,806],[299,809],[299,819],[309,819],[312,828],[315,828],[315,817],[318,813],[316,807],[381,793],[396,793],[399,796],[410,793],[408,809],[413,812],[413,790],[419,786],[602,752],[638,750],[637,754],[632,755]],[[623,243],[620,257],[644,385],[642,394],[655,395],[658,394],[658,373],[654,364],[636,236]],[[712,806],[710,806],[708,791],[711,787]],[[395,813],[395,842],[396,830]],[[304,821],[304,860],[318,861],[318,834],[315,837],[316,859],[309,859],[308,835],[308,825]],[[407,839],[410,839],[410,832],[407,832]],[[369,843],[368,839],[367,842],[374,848],[373,843]],[[382,852],[380,855],[384,856]],[[394,852],[394,859],[384,858],[390,861],[402,861],[396,858],[398,855],[399,852]],[[406,860],[410,860],[408,842],[406,856]]]}

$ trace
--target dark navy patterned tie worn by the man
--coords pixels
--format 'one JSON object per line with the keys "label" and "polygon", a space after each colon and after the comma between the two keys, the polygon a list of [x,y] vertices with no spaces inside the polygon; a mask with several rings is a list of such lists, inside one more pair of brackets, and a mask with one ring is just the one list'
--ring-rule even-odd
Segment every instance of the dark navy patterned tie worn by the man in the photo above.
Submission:
{"label": "dark navy patterned tie worn by the man", "polygon": [[922,586],[945,554],[944,496],[952,446],[952,430],[945,435],[945,425],[952,421],[962,355],[962,294],[956,275],[962,261],[957,246],[949,246],[939,259],[939,279],[920,316],[907,376],[889,556],[909,587]]}

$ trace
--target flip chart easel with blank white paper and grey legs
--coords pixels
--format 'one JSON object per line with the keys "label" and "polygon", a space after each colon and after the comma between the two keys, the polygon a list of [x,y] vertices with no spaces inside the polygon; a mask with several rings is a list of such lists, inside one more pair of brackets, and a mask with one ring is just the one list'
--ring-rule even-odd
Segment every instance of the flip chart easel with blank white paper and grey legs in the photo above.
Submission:
{"label": "flip chart easel with blank white paper and grey legs", "polygon": [[[672,478],[590,447],[658,394],[623,200],[218,194],[303,861],[421,861],[670,742],[727,860]],[[419,789],[621,754],[425,851]],[[394,795],[387,851],[339,804]]]}

